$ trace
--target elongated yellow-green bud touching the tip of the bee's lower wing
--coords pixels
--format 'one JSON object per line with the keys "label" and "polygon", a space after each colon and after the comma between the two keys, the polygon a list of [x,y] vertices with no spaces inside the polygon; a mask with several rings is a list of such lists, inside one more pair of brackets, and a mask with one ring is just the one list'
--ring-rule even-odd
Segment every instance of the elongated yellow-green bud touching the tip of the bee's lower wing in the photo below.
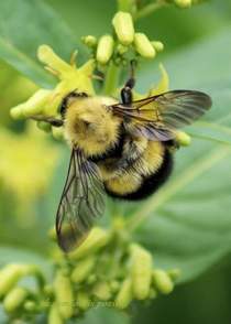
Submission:
{"label": "elongated yellow-green bud touching the tip of the bee's lower wing", "polygon": [[69,259],[77,260],[90,253],[95,253],[105,247],[110,239],[110,235],[100,227],[95,227],[90,231],[88,238],[76,249],[68,255]]}

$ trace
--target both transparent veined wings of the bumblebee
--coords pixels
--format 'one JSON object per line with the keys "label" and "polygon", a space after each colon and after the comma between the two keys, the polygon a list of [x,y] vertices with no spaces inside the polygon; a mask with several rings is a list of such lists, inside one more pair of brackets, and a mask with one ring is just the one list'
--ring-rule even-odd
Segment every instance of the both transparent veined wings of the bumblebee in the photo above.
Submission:
{"label": "both transparent veined wings of the bumblebee", "polygon": [[[211,107],[208,95],[193,90],[174,90],[130,106],[108,107],[124,120],[128,133],[154,141],[174,139],[175,130],[197,120]],[[61,248],[69,251],[87,237],[95,219],[103,214],[105,187],[97,165],[81,151],[73,149],[66,184],[56,215]]]}

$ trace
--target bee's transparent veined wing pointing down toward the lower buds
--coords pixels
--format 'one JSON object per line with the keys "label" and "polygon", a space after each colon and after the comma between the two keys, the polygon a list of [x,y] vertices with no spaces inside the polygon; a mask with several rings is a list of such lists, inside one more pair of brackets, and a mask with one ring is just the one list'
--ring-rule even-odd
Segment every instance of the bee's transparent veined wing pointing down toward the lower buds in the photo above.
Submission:
{"label": "bee's transparent veined wing pointing down toward the lower buds", "polygon": [[80,151],[73,150],[56,215],[61,248],[69,251],[78,247],[103,209],[105,187],[97,165],[86,160]]}

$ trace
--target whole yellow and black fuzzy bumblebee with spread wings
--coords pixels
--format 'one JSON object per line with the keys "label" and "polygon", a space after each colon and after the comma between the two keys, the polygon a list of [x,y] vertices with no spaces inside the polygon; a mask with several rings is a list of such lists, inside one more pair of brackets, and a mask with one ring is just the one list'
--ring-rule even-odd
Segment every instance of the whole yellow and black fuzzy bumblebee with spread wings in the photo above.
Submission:
{"label": "whole yellow and black fuzzy bumblebee with spread wings", "polygon": [[131,76],[120,102],[72,91],[63,99],[62,119],[45,120],[64,126],[72,148],[56,215],[64,251],[86,238],[95,219],[103,214],[107,194],[139,201],[158,190],[173,170],[176,130],[211,107],[210,97],[196,90],[173,90],[133,101],[134,83]]}

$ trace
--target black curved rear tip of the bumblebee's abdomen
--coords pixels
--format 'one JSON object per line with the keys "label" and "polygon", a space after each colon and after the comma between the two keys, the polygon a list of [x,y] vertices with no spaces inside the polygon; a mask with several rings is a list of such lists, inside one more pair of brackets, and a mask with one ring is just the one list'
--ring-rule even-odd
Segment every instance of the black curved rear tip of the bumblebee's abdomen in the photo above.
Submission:
{"label": "black curved rear tip of the bumblebee's abdomen", "polygon": [[106,187],[106,192],[117,198],[122,198],[127,201],[139,201],[148,197],[154,192],[156,192],[169,177],[173,171],[173,154],[168,149],[165,150],[165,155],[163,163],[157,172],[151,174],[150,176],[144,176],[139,190],[133,193],[119,195]]}

